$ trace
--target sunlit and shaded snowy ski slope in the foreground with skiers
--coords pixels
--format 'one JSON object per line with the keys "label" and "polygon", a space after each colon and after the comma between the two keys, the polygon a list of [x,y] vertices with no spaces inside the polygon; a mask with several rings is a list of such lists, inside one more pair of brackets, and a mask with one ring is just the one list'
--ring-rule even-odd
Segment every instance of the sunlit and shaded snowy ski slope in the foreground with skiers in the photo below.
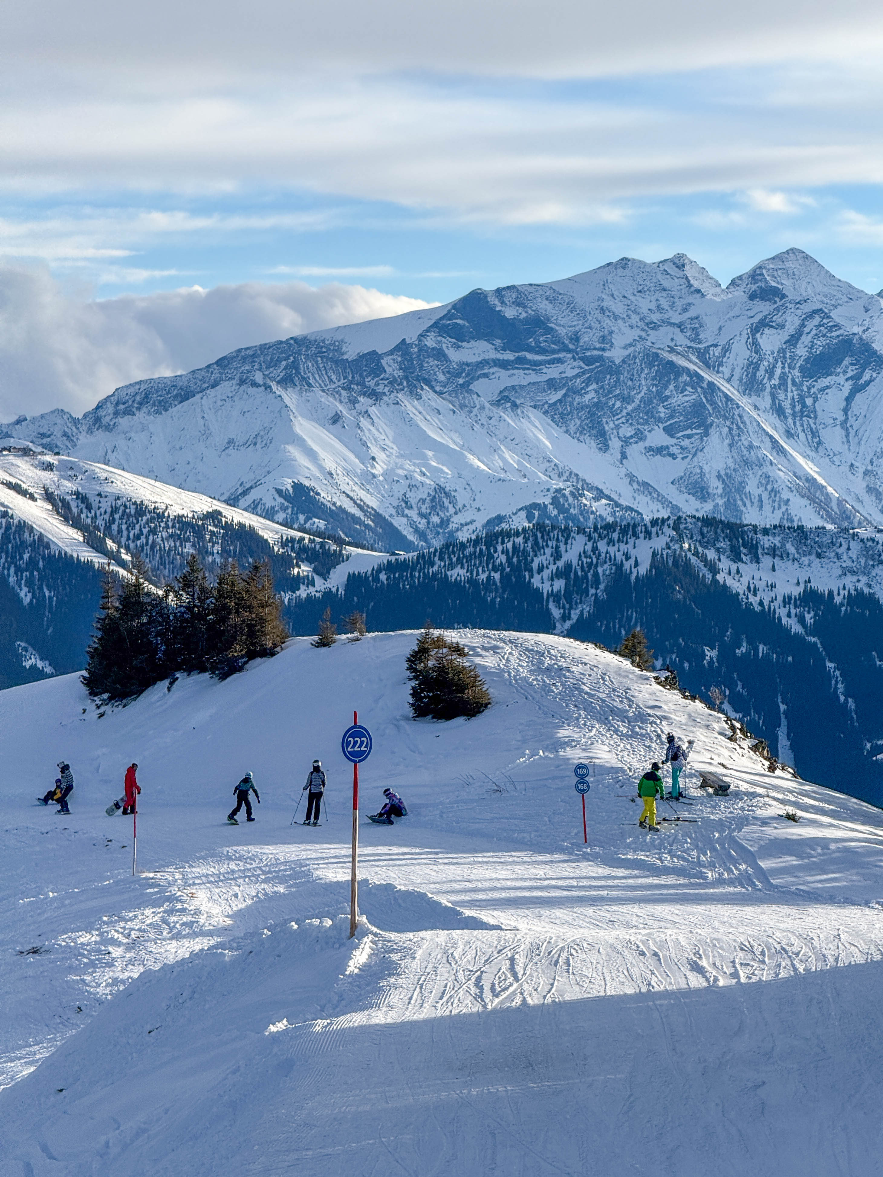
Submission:
{"label": "sunlit and shaded snowy ski slope in the foreground with skiers", "polygon": [[[463,638],[494,705],[444,725],[407,716],[413,634],[296,640],[101,718],[73,677],[0,694],[6,1171],[877,1171],[879,811],[766,772],[615,656]],[[361,827],[348,942],[353,707],[363,807],[389,783],[410,813]],[[690,792],[704,766],[733,791],[663,806],[697,820],[655,836],[629,796],[670,727]],[[31,804],[62,754],[69,819]],[[313,756],[331,816],[305,830]],[[132,758],[135,878],[104,814]],[[245,769],[254,830],[224,823]]]}

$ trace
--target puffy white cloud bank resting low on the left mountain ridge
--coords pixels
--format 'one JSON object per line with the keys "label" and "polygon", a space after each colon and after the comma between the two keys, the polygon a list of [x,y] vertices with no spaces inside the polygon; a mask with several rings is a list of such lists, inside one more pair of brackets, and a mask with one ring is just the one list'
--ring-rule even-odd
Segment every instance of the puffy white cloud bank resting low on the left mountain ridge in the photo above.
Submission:
{"label": "puffy white cloud bank resting low on the left mountain ridge", "polygon": [[121,384],[226,352],[431,304],[364,286],[244,282],[93,301],[45,267],[0,266],[0,420],[81,413]]}

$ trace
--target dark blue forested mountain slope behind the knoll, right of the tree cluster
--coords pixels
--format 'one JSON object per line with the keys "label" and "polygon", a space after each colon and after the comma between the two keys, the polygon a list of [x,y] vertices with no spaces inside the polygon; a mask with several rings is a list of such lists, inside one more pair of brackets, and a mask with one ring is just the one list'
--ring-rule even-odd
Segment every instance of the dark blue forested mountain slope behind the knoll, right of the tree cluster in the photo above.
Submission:
{"label": "dark blue forested mountain slope behind the knoll, right of the tree cluster", "polygon": [[659,670],[706,700],[717,687],[774,754],[883,804],[882,564],[874,532],[695,518],[533,525],[352,572],[288,617],[299,633],[330,607],[364,611],[371,630],[430,618],[608,646],[638,626]]}

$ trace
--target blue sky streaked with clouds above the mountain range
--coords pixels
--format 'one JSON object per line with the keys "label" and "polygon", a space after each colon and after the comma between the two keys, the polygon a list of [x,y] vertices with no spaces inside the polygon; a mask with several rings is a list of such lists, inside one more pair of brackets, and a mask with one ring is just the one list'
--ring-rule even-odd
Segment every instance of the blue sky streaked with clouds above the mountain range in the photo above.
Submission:
{"label": "blue sky streaked with clouds above the mountain range", "polygon": [[[7,12],[0,371],[18,375],[0,374],[0,413],[82,408],[211,359],[223,300],[185,300],[205,354],[157,334],[151,298],[182,288],[241,288],[272,337],[624,254],[684,252],[725,284],[796,245],[883,287],[883,12],[867,0]],[[324,286],[337,311],[310,293]],[[82,340],[95,299],[119,305]],[[124,310],[141,343],[112,359]],[[53,324],[73,353],[59,344],[38,387],[20,341]]]}

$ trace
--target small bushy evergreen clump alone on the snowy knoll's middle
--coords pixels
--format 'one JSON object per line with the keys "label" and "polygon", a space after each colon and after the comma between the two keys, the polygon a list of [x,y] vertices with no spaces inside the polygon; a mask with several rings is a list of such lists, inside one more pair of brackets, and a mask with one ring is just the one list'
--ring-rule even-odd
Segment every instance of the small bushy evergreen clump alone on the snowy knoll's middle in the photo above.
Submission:
{"label": "small bushy evergreen clump alone on the snowy knoll's middle", "polygon": [[405,660],[414,719],[479,716],[491,705],[482,676],[466,661],[469,651],[427,621]]}

